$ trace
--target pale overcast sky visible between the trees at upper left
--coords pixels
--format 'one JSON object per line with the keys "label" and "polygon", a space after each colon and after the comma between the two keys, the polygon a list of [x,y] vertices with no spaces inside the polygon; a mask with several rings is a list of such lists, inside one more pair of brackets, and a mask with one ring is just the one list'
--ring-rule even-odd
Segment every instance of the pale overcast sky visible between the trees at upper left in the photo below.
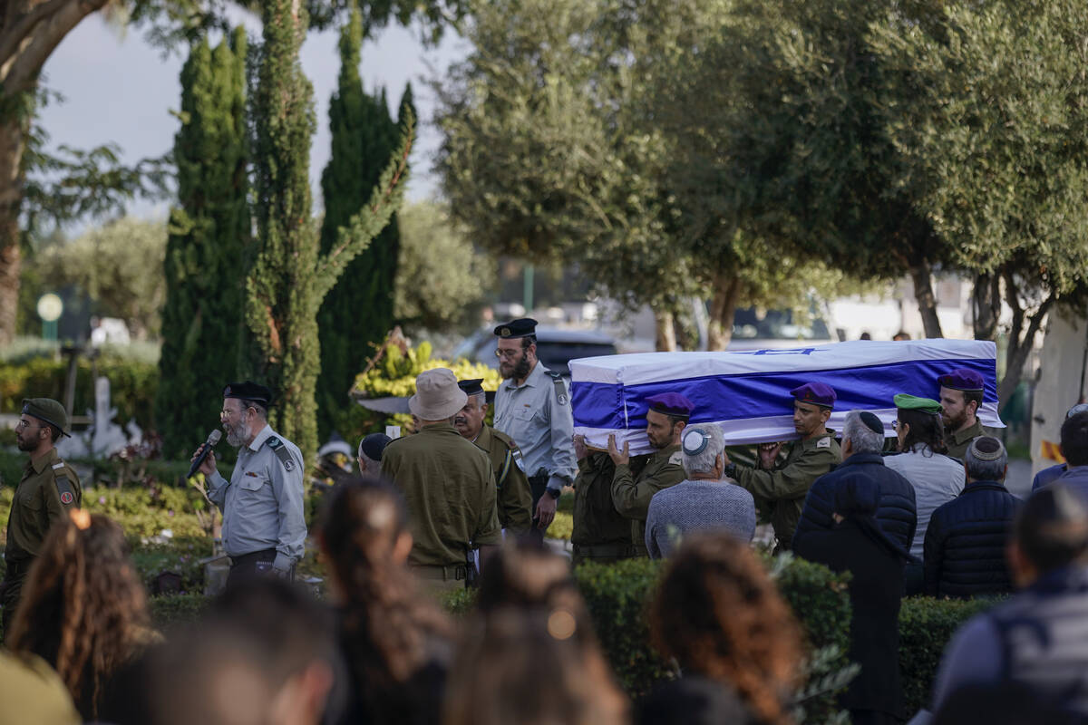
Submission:
{"label": "pale overcast sky visible between the trees at upper left", "polygon": [[[243,15],[238,15],[243,20]],[[259,24],[245,20],[251,34]],[[320,204],[321,171],[329,161],[329,97],[336,88],[339,54],[336,30],[311,33],[302,47],[302,68],[313,84],[318,132],[310,154],[310,182],[314,209]],[[446,34],[436,48],[424,48],[415,29],[388,27],[362,48],[360,75],[368,91],[384,86],[394,107],[405,84],[412,83],[420,116],[419,140],[412,153],[410,199],[423,199],[436,192],[431,174],[432,158],[438,135],[431,125],[434,99],[423,83],[435,73],[445,73],[449,63],[463,58],[467,43]],[[107,142],[118,143],[126,162],[159,157],[170,150],[178,121],[171,114],[181,105],[181,72],[184,58],[163,58],[136,30],[119,32],[98,14],[81,23],[61,42],[45,66],[45,85],[64,97],[52,102],[38,118],[50,135],[50,147],[62,143],[87,149]],[[129,213],[139,216],[165,216],[168,204],[136,201]]]}

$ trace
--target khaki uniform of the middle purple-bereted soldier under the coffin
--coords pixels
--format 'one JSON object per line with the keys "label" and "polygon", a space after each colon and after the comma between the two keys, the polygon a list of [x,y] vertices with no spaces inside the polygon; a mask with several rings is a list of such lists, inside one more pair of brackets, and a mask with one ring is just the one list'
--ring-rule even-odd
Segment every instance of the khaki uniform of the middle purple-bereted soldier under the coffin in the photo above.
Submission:
{"label": "khaki uniform of the middle purple-bereted soldier under the coffin", "polygon": [[793,532],[801,520],[801,509],[813,482],[842,460],[834,433],[828,430],[809,440],[799,440],[790,447],[786,460],[774,471],[737,467],[737,484],[755,498],[761,512],[770,513],[778,550],[788,550]]}

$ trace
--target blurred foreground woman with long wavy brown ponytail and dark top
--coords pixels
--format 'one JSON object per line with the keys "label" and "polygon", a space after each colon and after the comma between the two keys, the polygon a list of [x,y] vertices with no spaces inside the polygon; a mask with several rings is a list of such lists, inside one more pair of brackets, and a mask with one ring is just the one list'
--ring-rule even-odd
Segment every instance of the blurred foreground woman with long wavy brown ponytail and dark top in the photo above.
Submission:
{"label": "blurred foreground woman with long wavy brown ponytail and dark top", "polygon": [[338,483],[318,539],[348,670],[333,699],[350,692],[344,711],[326,721],[436,722],[452,630],[405,563],[412,538],[399,492],[376,479]]}

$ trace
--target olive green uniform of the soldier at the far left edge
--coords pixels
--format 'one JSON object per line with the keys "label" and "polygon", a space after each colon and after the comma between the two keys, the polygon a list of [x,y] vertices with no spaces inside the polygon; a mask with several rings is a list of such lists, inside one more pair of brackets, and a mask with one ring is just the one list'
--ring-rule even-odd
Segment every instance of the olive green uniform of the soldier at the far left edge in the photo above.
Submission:
{"label": "olive green uniform of the soldier at the far left edge", "polygon": [[3,579],[4,632],[15,614],[26,573],[38,555],[41,542],[53,522],[79,508],[83,489],[72,466],[64,463],[55,448],[26,463],[23,478],[15,488],[8,517],[8,565]]}

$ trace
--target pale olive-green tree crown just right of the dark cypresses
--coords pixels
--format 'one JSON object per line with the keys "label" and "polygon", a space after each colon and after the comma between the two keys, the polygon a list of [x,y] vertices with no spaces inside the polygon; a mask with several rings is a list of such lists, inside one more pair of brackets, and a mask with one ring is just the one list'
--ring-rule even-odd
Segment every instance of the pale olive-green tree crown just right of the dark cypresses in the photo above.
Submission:
{"label": "pale olive-green tree crown just right of the dark cypresses", "polygon": [[498,277],[491,257],[437,202],[407,204],[398,214],[400,264],[395,314],[408,328],[442,330],[471,325]]}

